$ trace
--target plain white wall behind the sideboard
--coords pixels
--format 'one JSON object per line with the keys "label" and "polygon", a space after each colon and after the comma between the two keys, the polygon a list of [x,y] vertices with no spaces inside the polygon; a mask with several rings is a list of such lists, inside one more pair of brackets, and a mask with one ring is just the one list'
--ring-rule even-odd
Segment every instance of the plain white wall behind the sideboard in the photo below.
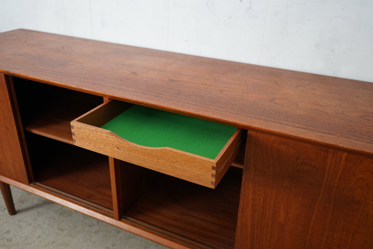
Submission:
{"label": "plain white wall behind the sideboard", "polygon": [[373,0],[0,0],[45,31],[373,82]]}

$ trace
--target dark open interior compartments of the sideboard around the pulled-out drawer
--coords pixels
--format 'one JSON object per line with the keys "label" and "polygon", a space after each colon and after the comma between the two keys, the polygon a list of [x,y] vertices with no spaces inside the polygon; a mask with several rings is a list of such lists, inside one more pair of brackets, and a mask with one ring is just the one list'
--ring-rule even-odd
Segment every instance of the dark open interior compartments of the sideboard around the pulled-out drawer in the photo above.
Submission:
{"label": "dark open interior compartments of the sideboard around the pulled-out drawer", "polygon": [[[16,77],[13,85],[34,176],[31,184],[113,216],[109,158],[74,146],[70,128],[70,121],[103,98]],[[134,173],[123,163],[121,220],[195,248],[233,248],[244,151],[216,189],[145,168]],[[147,177],[136,176],[140,182],[126,184],[136,174]],[[141,191],[133,194],[129,185],[141,185]]]}

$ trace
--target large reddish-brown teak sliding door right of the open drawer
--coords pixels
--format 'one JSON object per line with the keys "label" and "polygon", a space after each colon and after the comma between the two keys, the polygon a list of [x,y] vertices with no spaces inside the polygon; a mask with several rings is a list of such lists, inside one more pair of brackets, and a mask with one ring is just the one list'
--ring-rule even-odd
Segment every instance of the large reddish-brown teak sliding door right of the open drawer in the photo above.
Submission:
{"label": "large reddish-brown teak sliding door right of the open drawer", "polygon": [[373,159],[248,132],[235,248],[373,248]]}

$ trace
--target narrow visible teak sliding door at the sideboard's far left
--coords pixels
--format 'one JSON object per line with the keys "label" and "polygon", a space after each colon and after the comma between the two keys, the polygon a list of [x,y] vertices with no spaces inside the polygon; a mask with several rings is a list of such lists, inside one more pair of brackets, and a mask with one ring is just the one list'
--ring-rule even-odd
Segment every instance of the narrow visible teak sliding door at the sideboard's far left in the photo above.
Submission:
{"label": "narrow visible teak sliding door at the sideboard's far left", "polygon": [[0,175],[28,184],[20,136],[9,80],[0,73]]}

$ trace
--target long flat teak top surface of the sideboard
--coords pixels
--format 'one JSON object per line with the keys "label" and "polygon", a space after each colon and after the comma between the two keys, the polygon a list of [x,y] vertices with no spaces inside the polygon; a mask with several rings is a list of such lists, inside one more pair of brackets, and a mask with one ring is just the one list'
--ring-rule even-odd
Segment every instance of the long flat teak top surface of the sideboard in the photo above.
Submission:
{"label": "long flat teak top surface of the sideboard", "polygon": [[373,83],[30,30],[0,72],[373,155]]}

